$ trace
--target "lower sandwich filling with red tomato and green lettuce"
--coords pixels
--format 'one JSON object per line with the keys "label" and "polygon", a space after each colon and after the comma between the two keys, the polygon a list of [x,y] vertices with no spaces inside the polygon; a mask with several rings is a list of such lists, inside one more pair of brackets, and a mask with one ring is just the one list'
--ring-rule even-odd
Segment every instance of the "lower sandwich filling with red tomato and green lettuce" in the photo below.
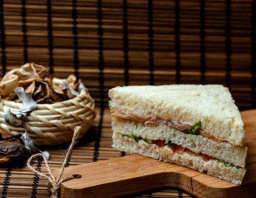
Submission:
{"label": "lower sandwich filling with red tomato and green lettuce", "polygon": [[239,169],[241,167],[235,166],[234,164],[230,164],[229,162],[224,161],[223,159],[217,159],[208,155],[205,155],[203,153],[195,153],[192,150],[189,150],[188,148],[184,148],[178,144],[172,143],[172,141],[165,141],[165,140],[149,140],[149,139],[143,139],[140,136],[134,136],[134,134],[131,134],[131,136],[124,135],[122,133],[119,133],[119,135],[123,138],[128,138],[128,139],[134,139],[138,144],[156,144],[158,147],[168,147],[171,149],[172,153],[182,153],[186,152],[189,155],[198,155],[201,156],[204,161],[209,161],[209,160],[215,160],[220,163],[223,163],[225,167],[236,167],[236,169]]}

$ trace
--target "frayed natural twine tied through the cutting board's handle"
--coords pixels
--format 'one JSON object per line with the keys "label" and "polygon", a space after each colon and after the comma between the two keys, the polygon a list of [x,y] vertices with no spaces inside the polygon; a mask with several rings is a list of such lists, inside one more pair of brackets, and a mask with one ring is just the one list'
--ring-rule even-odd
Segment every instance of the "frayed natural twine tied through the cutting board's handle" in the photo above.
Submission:
{"label": "frayed natural twine tied through the cutting board's handle", "polygon": [[[66,164],[67,164],[67,160],[70,156],[70,153],[73,149],[73,146],[74,144],[76,143],[76,140],[78,139],[79,137],[79,131],[80,131],[81,127],[80,126],[77,126],[75,127],[74,129],[74,133],[73,133],[73,138],[72,138],[72,142],[67,150],[67,154],[66,154],[66,157],[65,157],[65,160],[62,164],[62,167],[61,167],[61,171],[58,175],[58,178],[55,179],[55,177],[52,175],[52,171],[50,170],[50,167],[47,163],[47,160],[45,158],[45,156],[41,153],[38,153],[38,154],[35,154],[33,156],[31,156],[28,161],[27,161],[27,167],[32,171],[34,172],[35,174],[47,179],[49,181],[49,183],[52,184],[52,189],[51,189],[51,198],[58,198],[58,194],[59,194],[59,188],[61,186],[61,183],[63,181],[67,181],[67,180],[70,180],[70,179],[73,179],[74,177],[73,176],[66,176],[64,178],[61,179],[62,175],[63,175],[63,172],[64,172],[64,168],[66,167]],[[46,174],[43,174],[43,173],[40,173],[38,170],[35,170],[34,167],[31,166],[31,161],[37,157],[42,157],[44,159],[44,163],[45,163],[45,166],[46,166],[46,169],[47,169],[47,172],[49,173],[49,176],[47,176]]]}

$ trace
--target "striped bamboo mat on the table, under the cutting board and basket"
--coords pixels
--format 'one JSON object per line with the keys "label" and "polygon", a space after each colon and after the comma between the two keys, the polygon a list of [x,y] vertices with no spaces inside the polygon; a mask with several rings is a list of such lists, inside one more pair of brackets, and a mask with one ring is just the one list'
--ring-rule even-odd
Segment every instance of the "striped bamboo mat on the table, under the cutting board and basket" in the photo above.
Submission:
{"label": "striped bamboo mat on the table, under the cutting board and basket", "polygon": [[[72,151],[67,166],[75,166],[93,161],[105,160],[108,158],[116,158],[124,155],[120,151],[113,149],[111,116],[108,108],[102,111],[97,108],[97,117],[94,127],[80,139]],[[102,118],[102,119],[101,119]],[[49,165],[51,170],[60,169],[64,160],[64,152],[68,145],[62,145],[47,149],[51,154]],[[125,153],[125,155],[130,155]],[[46,168],[40,161],[34,161],[38,170],[47,173]],[[1,198],[49,198],[47,190],[47,181],[34,175],[27,167],[22,165],[9,168],[0,168],[0,188],[2,189]],[[162,190],[159,192],[148,192],[144,195],[138,195],[136,198],[187,198],[191,197],[182,190]]]}

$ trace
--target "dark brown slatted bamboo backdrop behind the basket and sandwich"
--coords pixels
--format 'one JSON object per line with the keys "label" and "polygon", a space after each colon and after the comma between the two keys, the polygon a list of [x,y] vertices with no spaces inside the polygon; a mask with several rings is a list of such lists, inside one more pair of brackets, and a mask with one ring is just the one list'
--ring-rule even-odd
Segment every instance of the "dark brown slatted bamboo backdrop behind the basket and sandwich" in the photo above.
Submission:
{"label": "dark brown slatted bamboo backdrop behind the basket and sandwich", "polygon": [[75,73],[96,102],[103,84],[221,84],[256,107],[255,0],[1,0],[0,34],[0,75]]}

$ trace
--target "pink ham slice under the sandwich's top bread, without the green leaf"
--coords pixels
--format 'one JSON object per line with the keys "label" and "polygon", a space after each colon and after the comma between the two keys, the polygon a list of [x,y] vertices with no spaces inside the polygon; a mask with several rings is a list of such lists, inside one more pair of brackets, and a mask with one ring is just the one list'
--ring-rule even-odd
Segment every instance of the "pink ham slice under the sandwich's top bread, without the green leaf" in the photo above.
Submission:
{"label": "pink ham slice under the sandwich's top bread, without the green leaf", "polygon": [[[134,121],[138,121],[138,122],[145,122],[145,124],[147,123],[151,123],[151,124],[166,124],[169,127],[172,127],[174,129],[177,130],[185,130],[188,127],[191,127],[191,124],[187,124],[187,123],[181,123],[181,122],[175,122],[172,120],[166,120],[163,118],[147,118],[144,116],[134,116],[134,115],[123,115],[121,113],[111,113],[111,117],[113,118],[122,118],[122,119],[129,119],[129,120],[134,120]],[[209,139],[212,139],[214,141],[216,141],[217,143],[223,142],[221,139],[218,139],[212,135],[210,135],[209,133],[207,133],[204,130],[199,131],[200,135],[205,136]],[[231,144],[231,143],[230,143]],[[235,144],[231,144],[232,146],[235,146]]]}

